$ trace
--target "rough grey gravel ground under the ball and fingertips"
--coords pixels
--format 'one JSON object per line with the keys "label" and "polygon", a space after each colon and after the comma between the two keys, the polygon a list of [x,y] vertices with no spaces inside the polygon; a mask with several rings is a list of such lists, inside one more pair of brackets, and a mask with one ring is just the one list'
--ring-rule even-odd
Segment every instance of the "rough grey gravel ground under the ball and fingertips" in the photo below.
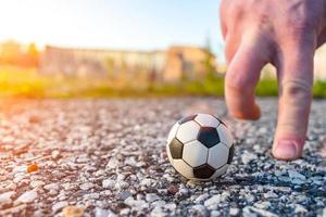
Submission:
{"label": "rough grey gravel ground under the ball and fingertips", "polygon": [[[0,216],[326,216],[326,101],[315,101],[304,156],[271,156],[276,99],[255,123],[222,100],[1,101]],[[227,174],[193,183],[170,165],[165,138],[190,113],[227,123],[236,154]],[[73,210],[73,212],[74,212]]]}

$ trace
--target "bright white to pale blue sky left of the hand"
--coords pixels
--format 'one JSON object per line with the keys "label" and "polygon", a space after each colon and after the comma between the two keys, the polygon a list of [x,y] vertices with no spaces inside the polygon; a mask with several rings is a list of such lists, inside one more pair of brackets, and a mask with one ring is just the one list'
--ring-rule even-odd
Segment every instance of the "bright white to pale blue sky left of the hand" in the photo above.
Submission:
{"label": "bright white to pale blue sky left of the hand", "polygon": [[164,49],[205,46],[221,53],[220,0],[0,0],[0,40],[38,46]]}

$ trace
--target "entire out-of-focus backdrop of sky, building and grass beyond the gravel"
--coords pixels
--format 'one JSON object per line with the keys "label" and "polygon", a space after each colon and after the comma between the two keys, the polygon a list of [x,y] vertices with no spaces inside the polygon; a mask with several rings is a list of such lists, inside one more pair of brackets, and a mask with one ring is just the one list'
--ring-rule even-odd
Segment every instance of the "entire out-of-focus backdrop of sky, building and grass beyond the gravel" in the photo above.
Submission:
{"label": "entire out-of-focus backdrop of sky, building and grass beyond the gravel", "polygon": [[[223,95],[220,0],[0,2],[0,97]],[[326,97],[326,47],[315,97]],[[277,95],[266,66],[256,93]]]}

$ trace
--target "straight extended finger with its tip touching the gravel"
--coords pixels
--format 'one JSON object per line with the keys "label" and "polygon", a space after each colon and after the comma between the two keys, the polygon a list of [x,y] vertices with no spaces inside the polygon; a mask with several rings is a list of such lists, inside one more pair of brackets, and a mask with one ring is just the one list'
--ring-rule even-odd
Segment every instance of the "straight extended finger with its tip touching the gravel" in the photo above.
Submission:
{"label": "straight extended finger with its tip touching the gravel", "polygon": [[284,44],[278,66],[278,120],[273,155],[286,161],[302,155],[312,103],[315,42],[312,35],[302,38]]}

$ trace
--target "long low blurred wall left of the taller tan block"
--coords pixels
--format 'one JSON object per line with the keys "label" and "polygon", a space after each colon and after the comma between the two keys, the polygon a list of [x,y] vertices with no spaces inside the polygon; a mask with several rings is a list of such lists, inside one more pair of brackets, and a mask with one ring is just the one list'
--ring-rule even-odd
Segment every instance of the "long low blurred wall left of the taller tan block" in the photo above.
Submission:
{"label": "long low blurred wall left of the taller tan block", "polygon": [[108,77],[126,71],[131,73],[163,71],[165,54],[92,49],[65,49],[47,47],[41,55],[40,72],[67,76]]}

